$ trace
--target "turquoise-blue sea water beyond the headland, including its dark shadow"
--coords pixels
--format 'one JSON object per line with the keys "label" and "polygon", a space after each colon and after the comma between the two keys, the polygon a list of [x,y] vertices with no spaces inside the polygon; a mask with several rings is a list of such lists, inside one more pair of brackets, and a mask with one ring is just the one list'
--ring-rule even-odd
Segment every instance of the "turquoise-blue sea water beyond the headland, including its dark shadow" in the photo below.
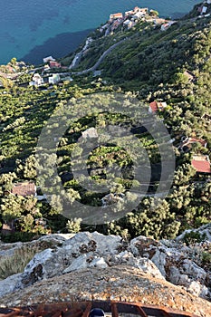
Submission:
{"label": "turquoise-blue sea water beyond the headland, including its dark shadow", "polygon": [[72,52],[110,13],[138,5],[160,16],[186,14],[199,0],[0,0],[0,64],[12,57],[39,63]]}

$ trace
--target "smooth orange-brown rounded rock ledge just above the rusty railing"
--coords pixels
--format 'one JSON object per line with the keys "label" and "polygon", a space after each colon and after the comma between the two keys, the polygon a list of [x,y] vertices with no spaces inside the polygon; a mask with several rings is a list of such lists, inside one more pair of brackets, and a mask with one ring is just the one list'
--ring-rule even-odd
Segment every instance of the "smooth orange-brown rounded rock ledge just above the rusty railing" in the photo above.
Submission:
{"label": "smooth orange-brown rounded rock ledge just above the rusty railing", "polygon": [[164,305],[200,317],[211,317],[211,303],[187,293],[180,286],[144,274],[139,268],[128,265],[89,268],[77,274],[72,272],[55,276],[35,283],[22,292],[6,295],[2,303],[11,307],[92,299]]}

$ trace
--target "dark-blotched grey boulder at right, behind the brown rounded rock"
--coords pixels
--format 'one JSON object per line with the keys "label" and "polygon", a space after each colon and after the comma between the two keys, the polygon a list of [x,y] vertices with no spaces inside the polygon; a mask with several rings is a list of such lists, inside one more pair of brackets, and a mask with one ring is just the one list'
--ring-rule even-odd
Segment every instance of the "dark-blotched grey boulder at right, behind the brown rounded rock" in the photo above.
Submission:
{"label": "dark-blotched grey boulder at right, behind the brown rounded rock", "polygon": [[[203,226],[204,229],[205,226]],[[207,243],[209,244],[209,242]],[[160,274],[170,283],[182,285],[190,293],[211,299],[210,274],[197,264],[199,254],[203,252],[202,245],[191,247],[184,245],[182,241],[161,240],[158,242],[145,236],[139,236],[130,241],[129,250],[137,258],[139,256],[149,258],[156,265]]]}

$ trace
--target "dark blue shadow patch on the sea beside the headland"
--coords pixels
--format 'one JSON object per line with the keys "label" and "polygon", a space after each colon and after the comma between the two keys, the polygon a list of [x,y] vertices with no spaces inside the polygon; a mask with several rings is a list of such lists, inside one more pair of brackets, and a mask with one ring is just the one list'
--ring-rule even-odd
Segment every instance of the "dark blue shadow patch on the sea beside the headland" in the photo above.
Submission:
{"label": "dark blue shadow patch on the sea beside the headland", "polygon": [[92,31],[92,29],[88,29],[79,32],[58,34],[45,41],[42,45],[35,46],[29,53],[25,54],[21,60],[39,64],[43,62],[43,57],[49,55],[53,55],[55,58],[61,58],[75,51]]}

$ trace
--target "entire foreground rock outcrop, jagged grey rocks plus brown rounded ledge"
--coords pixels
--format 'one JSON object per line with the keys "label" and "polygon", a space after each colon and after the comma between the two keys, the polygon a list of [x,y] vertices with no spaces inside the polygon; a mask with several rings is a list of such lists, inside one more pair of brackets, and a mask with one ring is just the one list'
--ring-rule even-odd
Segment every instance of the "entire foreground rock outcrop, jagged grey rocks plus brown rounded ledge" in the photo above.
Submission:
{"label": "entire foreground rock outcrop, jagged grey rocks plus brown rounded ledge", "polygon": [[43,251],[34,255],[23,273],[0,281],[1,303],[14,306],[111,299],[211,316],[211,273],[200,260],[205,247],[210,246],[210,231],[210,225],[197,229],[204,242],[192,246],[181,242],[184,235],[175,241],[139,236],[126,242],[120,236],[97,232],[2,244],[0,255],[7,260],[26,245],[43,245]]}

